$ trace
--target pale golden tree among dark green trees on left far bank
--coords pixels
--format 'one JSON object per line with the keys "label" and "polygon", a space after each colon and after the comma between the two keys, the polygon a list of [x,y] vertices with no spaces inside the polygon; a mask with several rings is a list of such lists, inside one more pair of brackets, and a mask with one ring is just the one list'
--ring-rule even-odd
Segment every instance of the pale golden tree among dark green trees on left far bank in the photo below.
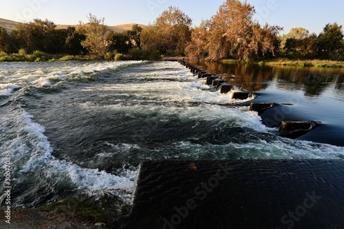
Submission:
{"label": "pale golden tree among dark green trees on left far bank", "polygon": [[104,58],[111,45],[110,29],[104,25],[105,19],[97,19],[96,16],[89,13],[89,23],[84,24],[80,21],[77,32],[86,36],[81,45],[89,51],[89,54],[96,58]]}

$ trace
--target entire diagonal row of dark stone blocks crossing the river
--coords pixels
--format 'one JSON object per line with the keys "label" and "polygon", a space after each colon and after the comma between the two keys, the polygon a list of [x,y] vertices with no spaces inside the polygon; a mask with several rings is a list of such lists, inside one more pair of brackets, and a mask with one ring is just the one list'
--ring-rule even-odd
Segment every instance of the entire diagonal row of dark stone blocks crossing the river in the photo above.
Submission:
{"label": "entire diagonal row of dark stone blocks crossing the river", "polygon": [[[209,72],[200,69],[200,67],[190,65],[184,61],[180,61],[180,63],[191,69],[191,72],[193,74],[197,74],[198,78],[206,78],[206,84],[219,88],[222,94],[227,94],[229,91],[232,91],[233,87],[235,86],[226,82],[217,75],[210,74]],[[251,96],[249,91],[241,89],[240,91],[234,91],[232,98],[246,100],[249,96]],[[274,107],[275,105],[275,102],[251,102],[250,111],[257,111],[260,116],[261,113],[264,113],[264,111]],[[317,124],[317,122],[309,120],[281,121],[279,126],[279,135],[282,135],[286,138],[297,138],[315,129]]]}

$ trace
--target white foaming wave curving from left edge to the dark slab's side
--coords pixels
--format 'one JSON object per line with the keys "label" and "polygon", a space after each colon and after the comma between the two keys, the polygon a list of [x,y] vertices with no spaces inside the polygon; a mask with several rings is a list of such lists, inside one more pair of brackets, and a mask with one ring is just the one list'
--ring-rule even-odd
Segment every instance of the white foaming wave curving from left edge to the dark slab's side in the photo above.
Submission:
{"label": "white foaming wave curving from left edge to the dark slab's side", "polygon": [[[17,109],[10,116],[1,117],[1,123],[10,124],[1,127],[0,151],[11,151],[12,164],[16,173],[36,173],[40,171],[45,177],[52,178],[56,183],[67,177],[78,190],[89,195],[100,196],[103,193],[118,195],[127,200],[131,197],[136,171],[127,171],[130,177],[113,175],[98,169],[81,168],[72,162],[58,160],[52,155],[53,149],[44,135],[44,127],[32,122],[32,116]],[[12,120],[12,121],[11,121]],[[1,166],[5,164],[4,155],[1,157]],[[125,172],[123,172],[124,174]],[[20,177],[19,177],[20,180]],[[62,182],[62,181],[61,181]]]}

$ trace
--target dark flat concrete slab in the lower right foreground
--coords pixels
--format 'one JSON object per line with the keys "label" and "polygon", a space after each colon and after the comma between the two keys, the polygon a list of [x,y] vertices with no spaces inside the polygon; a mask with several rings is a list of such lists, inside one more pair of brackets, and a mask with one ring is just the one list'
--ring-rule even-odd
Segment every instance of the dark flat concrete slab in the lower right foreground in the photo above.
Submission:
{"label": "dark flat concrete slab in the lower right foreground", "polygon": [[142,162],[131,212],[118,224],[123,229],[341,228],[343,177],[343,160]]}

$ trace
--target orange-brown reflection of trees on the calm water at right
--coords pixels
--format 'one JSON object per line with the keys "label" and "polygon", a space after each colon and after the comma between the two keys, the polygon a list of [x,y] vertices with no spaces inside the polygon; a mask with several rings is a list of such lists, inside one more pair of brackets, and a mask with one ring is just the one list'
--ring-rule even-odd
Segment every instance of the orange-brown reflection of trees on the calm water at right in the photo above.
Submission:
{"label": "orange-brown reflection of trees on the calm water at right", "polygon": [[209,62],[191,64],[200,65],[212,74],[222,74],[231,83],[244,85],[249,91],[265,89],[270,80],[277,83],[278,89],[301,90],[305,96],[320,96],[332,85],[337,92],[344,88],[344,69]]}

